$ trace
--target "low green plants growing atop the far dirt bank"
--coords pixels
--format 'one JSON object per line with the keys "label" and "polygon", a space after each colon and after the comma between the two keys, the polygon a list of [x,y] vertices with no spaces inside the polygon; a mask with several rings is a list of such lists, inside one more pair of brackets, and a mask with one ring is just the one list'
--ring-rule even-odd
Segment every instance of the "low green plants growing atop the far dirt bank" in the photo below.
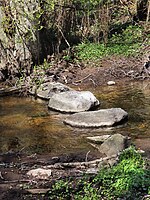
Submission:
{"label": "low green plants growing atop the far dirt bank", "polygon": [[138,53],[143,42],[143,29],[129,26],[122,34],[114,34],[107,45],[103,43],[79,44],[77,54],[82,60],[98,60],[109,55],[133,56]]}

